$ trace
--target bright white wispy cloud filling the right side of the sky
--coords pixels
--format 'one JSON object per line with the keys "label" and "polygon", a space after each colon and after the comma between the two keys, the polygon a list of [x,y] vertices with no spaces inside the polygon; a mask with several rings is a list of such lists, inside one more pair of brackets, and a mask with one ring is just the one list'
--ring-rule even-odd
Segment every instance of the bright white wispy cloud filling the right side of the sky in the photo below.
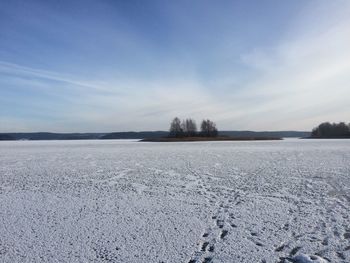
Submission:
{"label": "bright white wispy cloud filling the right side of the sky", "polygon": [[[309,10],[308,16],[296,18],[297,27],[290,29],[293,36],[286,34],[274,46],[242,55],[242,62],[258,76],[236,94],[243,101],[256,97],[243,119],[265,116],[267,126],[309,129],[320,121],[348,118],[350,19],[337,19],[339,8],[345,7],[338,5],[327,13]],[[349,13],[349,5],[343,10]],[[322,28],[307,24],[305,30],[300,21],[309,22],[310,15],[327,18],[328,23]]]}

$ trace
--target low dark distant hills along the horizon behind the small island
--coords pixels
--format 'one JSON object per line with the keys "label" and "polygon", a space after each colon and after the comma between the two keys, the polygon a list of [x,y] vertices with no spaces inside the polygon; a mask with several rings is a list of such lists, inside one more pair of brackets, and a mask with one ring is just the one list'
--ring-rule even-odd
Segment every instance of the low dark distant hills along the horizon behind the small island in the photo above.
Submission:
{"label": "low dark distant hills along the horizon behind the small island", "polygon": [[[96,140],[96,139],[152,139],[168,136],[168,131],[112,132],[112,133],[0,133],[0,140]],[[233,137],[309,137],[304,131],[220,131],[219,136]]]}

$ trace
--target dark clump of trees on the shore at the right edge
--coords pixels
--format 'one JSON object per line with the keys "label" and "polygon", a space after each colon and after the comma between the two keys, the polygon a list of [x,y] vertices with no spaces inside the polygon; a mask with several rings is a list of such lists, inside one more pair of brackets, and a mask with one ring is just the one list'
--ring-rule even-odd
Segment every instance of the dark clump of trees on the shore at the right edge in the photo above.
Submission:
{"label": "dark clump of trees on the shore at the right edge", "polygon": [[311,132],[313,138],[350,138],[350,123],[324,122],[314,128]]}

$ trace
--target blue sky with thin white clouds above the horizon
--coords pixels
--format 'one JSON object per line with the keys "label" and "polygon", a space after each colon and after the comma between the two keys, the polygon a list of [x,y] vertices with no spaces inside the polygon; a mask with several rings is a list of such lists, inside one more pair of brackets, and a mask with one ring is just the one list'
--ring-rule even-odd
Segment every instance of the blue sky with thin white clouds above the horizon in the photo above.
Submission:
{"label": "blue sky with thin white clouds above the horizon", "polygon": [[0,132],[350,122],[348,0],[0,0]]}

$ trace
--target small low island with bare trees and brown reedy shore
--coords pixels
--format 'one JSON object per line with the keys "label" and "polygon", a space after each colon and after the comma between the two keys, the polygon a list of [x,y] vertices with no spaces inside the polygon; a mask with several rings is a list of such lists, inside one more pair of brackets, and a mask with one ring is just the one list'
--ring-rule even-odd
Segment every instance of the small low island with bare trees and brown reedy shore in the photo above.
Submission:
{"label": "small low island with bare trees and brown reedy shore", "polygon": [[254,140],[282,140],[279,137],[232,137],[220,135],[216,124],[204,119],[201,122],[200,130],[197,129],[196,121],[192,118],[180,120],[175,117],[169,128],[166,137],[146,138],[142,142],[190,142],[190,141],[254,141]]}

